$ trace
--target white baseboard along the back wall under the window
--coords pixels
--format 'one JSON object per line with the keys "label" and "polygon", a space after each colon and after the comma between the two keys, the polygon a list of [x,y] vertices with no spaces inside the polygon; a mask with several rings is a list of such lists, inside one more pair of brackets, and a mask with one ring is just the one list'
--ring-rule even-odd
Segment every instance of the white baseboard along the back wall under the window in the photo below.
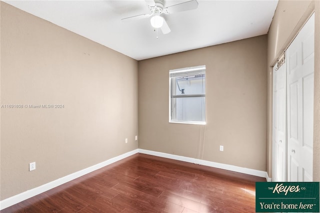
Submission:
{"label": "white baseboard along the back wall under the window", "polygon": [[269,178],[268,174],[266,171],[260,171],[252,168],[244,168],[236,165],[229,165],[229,164],[224,164],[224,163],[219,163],[219,162],[212,162],[208,160],[202,160],[202,159],[196,159],[192,157],[185,157],[185,156],[180,156],[180,155],[175,155],[175,154],[168,154],[168,153],[163,153],[163,152],[158,152],[158,151],[150,151],[150,150],[145,150],[145,149],[138,149],[139,153],[144,153],[144,154],[150,154],[154,156],[159,156],[159,157],[165,157],[165,158],[170,158],[170,159],[176,159],[176,160],[181,160],[185,162],[191,162],[195,164],[200,164],[200,165],[206,165],[210,167],[215,167],[215,168],[222,168],[225,170],[230,170],[230,171],[236,171],[244,174],[251,174],[254,176],[259,176],[259,177],[265,177],[266,181],[271,181],[271,178]]}

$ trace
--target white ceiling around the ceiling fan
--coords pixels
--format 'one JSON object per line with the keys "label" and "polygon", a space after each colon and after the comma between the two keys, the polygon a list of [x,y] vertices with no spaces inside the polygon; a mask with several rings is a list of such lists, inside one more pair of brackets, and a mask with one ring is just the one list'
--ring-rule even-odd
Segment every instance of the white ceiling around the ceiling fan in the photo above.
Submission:
{"label": "white ceiling around the ceiling fan", "polygon": [[[170,6],[187,0],[165,0]],[[5,0],[136,60],[266,34],[277,0],[198,0],[198,8],[165,15],[171,32],[162,34],[149,18],[144,0]]]}

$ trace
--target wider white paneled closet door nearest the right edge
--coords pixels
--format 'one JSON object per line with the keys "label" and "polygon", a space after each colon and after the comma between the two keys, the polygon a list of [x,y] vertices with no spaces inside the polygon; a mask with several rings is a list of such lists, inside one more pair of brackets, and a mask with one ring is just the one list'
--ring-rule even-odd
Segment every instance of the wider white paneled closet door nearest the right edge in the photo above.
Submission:
{"label": "wider white paneled closet door nearest the right edge", "polygon": [[312,181],[314,14],[286,51],[287,180]]}

